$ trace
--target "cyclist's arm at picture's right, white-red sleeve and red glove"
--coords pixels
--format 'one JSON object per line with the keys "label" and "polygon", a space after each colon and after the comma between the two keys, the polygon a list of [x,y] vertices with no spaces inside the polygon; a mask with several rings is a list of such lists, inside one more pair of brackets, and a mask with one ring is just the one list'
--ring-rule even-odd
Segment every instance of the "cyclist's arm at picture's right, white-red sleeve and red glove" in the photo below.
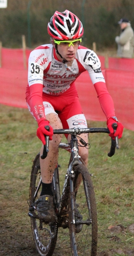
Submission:
{"label": "cyclist's arm at picture's right, white-red sleeve and red glove", "polygon": [[101,72],[101,63],[95,52],[90,50],[86,51],[83,59],[83,66],[88,70],[91,81],[97,92],[101,108],[107,118],[107,126],[110,131],[109,136],[118,136],[120,139],[123,134],[123,125],[118,122],[117,130],[114,133],[114,129],[112,128],[113,123],[115,123],[115,118],[113,118],[115,117],[114,102],[106,88],[105,79]]}

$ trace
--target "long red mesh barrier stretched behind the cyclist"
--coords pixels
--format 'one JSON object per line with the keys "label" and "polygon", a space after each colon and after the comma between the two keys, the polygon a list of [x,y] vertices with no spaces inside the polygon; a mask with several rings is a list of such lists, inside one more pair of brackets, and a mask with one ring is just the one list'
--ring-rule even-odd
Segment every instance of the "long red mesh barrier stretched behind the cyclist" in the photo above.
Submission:
{"label": "long red mesh barrier stretched behind the cyclist", "polygon": [[[30,52],[26,50],[26,65]],[[22,49],[2,48],[1,104],[27,108],[25,92],[28,71],[24,69],[23,57]],[[134,59],[108,58],[109,68],[105,69],[105,58],[99,58],[108,91],[114,100],[115,114],[125,128],[134,131]],[[88,72],[77,78],[76,87],[86,119],[106,121]]]}

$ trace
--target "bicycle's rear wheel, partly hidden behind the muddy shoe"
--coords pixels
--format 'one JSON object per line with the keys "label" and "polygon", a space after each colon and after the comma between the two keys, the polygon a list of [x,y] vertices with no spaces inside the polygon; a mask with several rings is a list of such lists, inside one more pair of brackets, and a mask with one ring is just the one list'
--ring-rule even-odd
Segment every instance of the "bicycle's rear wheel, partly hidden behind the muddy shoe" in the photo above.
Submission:
{"label": "bicycle's rear wheel, partly hidden behind the muddy shoe", "polygon": [[[34,159],[32,170],[31,170],[31,179],[30,179],[30,207],[34,205],[34,202],[38,199],[41,192],[41,186],[39,186],[37,195],[34,197],[37,185],[41,177],[40,172],[40,153]],[[40,184],[41,185],[41,184]],[[31,207],[32,208],[32,207]],[[37,215],[37,211],[33,208],[34,215]],[[57,242],[57,233],[58,227],[57,223],[45,224],[43,221],[40,221],[38,218],[31,218],[31,229],[34,239],[34,244],[37,249],[37,252],[41,256],[51,256],[54,252],[56,242]]]}

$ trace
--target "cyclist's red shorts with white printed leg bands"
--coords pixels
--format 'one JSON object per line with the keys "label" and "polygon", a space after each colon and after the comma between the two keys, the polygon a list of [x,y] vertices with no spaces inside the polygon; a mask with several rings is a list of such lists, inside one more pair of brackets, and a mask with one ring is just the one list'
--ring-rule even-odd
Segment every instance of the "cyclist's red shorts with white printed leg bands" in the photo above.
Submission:
{"label": "cyclist's red shorts with white printed leg bands", "polygon": [[[26,98],[30,108],[30,95],[28,96],[28,90]],[[57,96],[43,93],[43,105],[45,108],[45,115],[48,113],[56,113],[59,116],[64,129],[87,127],[86,118],[83,114],[77,90],[74,85],[72,85],[66,92]]]}

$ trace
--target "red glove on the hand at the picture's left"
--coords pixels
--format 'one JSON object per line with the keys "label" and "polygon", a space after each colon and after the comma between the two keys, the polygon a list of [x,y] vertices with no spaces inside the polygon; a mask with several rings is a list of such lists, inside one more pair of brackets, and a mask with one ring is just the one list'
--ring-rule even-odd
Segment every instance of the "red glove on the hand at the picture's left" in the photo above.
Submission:
{"label": "red glove on the hand at the picture's left", "polygon": [[[49,131],[47,131],[45,129],[46,125],[49,126]],[[39,123],[39,127],[37,128],[37,137],[42,141],[43,145],[46,145],[46,141],[45,141],[45,136],[44,135],[49,136],[49,140],[52,140],[53,128],[49,125],[49,121],[48,120],[42,120]]]}

